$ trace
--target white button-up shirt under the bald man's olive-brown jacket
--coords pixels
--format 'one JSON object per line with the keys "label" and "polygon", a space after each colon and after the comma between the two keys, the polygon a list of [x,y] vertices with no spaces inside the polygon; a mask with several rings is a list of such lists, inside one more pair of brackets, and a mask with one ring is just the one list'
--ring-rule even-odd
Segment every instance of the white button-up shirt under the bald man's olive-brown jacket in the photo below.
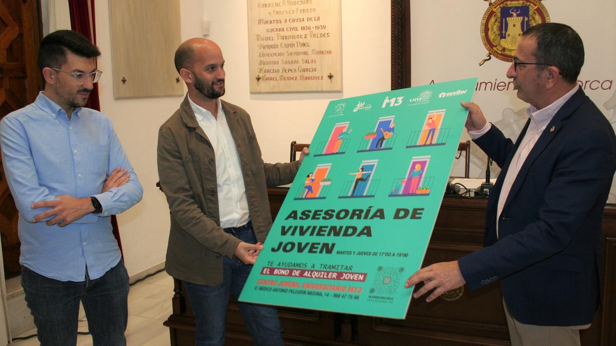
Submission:
{"label": "white button-up shirt under the bald man's olive-brown jacket", "polygon": [[198,106],[188,97],[197,122],[208,136],[216,156],[216,184],[221,227],[240,227],[248,223],[248,199],[244,177],[241,174],[240,156],[233,142],[227,118],[222,110],[221,100],[216,100],[216,118],[205,108]]}

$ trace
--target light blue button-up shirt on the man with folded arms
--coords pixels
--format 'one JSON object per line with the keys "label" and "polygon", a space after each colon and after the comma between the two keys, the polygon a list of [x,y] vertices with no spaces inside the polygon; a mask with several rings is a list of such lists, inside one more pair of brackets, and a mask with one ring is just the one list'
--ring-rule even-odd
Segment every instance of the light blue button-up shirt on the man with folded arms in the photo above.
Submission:
{"label": "light blue button-up shirt on the man with folded arms", "polygon": [[[34,103],[2,119],[0,141],[4,172],[20,215],[20,264],[61,281],[84,281],[86,266],[91,279],[115,267],[121,254],[110,215],[139,202],[143,188],[111,120],[89,108],[76,108],[69,120],[62,107],[41,92]],[[118,166],[128,169],[129,182],[101,193],[107,174]],[[95,196],[103,212],[65,227],[32,222],[51,208],[31,209],[31,204],[61,195]]]}

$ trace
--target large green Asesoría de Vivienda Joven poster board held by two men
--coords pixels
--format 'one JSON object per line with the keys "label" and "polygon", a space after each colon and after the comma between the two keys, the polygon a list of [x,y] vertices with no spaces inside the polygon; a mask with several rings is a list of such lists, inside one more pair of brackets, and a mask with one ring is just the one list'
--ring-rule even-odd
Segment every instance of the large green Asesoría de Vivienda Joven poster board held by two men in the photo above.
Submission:
{"label": "large green Asesor\u00eda de Vivienda Joven poster board held by two men", "polygon": [[405,318],[476,82],[331,101],[239,300]]}

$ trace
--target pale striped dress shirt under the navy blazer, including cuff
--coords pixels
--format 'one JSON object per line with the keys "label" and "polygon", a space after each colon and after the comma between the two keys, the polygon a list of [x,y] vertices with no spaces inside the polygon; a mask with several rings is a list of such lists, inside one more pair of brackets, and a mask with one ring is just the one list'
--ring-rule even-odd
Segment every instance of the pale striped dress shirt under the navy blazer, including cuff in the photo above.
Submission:
{"label": "pale striped dress shirt under the navy blazer, including cuff", "polygon": [[[551,103],[548,107],[545,107],[541,110],[537,110],[534,106],[530,106],[526,109],[526,114],[530,117],[529,128],[526,130],[524,134],[524,138],[520,143],[520,146],[517,148],[516,153],[511,159],[511,164],[509,164],[509,169],[507,170],[507,174],[505,175],[505,180],[503,180],[503,187],[501,188],[500,196],[498,197],[498,207],[496,209],[496,237],[498,238],[498,220],[500,219],[500,214],[503,211],[503,206],[505,206],[505,201],[507,201],[507,196],[509,195],[509,190],[511,190],[511,186],[516,180],[517,174],[519,173],[524,161],[529,156],[530,150],[535,146],[537,140],[541,136],[541,133],[545,130],[545,127],[548,123],[554,118],[556,112],[559,111],[567,100],[569,100],[573,94],[580,88],[578,84],[575,84],[575,87],[571,89],[567,94],[562,95],[560,99],[557,99],[553,103]],[[488,132],[492,128],[492,124],[485,124],[483,129],[479,131],[468,131],[471,139],[475,140],[486,132]]]}

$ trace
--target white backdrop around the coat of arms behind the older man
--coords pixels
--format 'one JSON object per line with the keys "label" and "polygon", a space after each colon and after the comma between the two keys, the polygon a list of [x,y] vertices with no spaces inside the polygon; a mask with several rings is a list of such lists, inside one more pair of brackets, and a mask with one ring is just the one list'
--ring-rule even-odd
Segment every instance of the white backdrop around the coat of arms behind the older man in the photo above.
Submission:
{"label": "white backdrop around the coat of arms behind the older man", "polygon": [[[411,78],[413,86],[450,79],[478,76],[480,82],[507,82],[505,73],[511,63],[492,57],[479,66],[487,50],[482,44],[479,27],[487,2],[450,0],[411,0]],[[603,112],[616,129],[616,1],[559,0],[543,1],[550,22],[565,23],[580,34],[584,42],[585,63],[578,79],[584,92]],[[445,25],[434,25],[434,15],[443,15]],[[431,14],[431,15],[426,15]],[[586,82],[595,81],[595,82]],[[599,86],[603,86],[603,88]],[[509,91],[477,91],[473,98],[486,118],[510,138],[524,126],[527,103]],[[464,136],[466,132],[464,132]],[[485,153],[472,145],[471,176],[482,177],[486,166]],[[461,163],[455,163],[460,172]],[[496,165],[493,165],[495,168]],[[454,174],[455,174],[454,170]],[[458,174],[459,175],[459,174]],[[495,177],[495,175],[493,175]],[[616,203],[616,179],[612,183],[609,203]]]}

